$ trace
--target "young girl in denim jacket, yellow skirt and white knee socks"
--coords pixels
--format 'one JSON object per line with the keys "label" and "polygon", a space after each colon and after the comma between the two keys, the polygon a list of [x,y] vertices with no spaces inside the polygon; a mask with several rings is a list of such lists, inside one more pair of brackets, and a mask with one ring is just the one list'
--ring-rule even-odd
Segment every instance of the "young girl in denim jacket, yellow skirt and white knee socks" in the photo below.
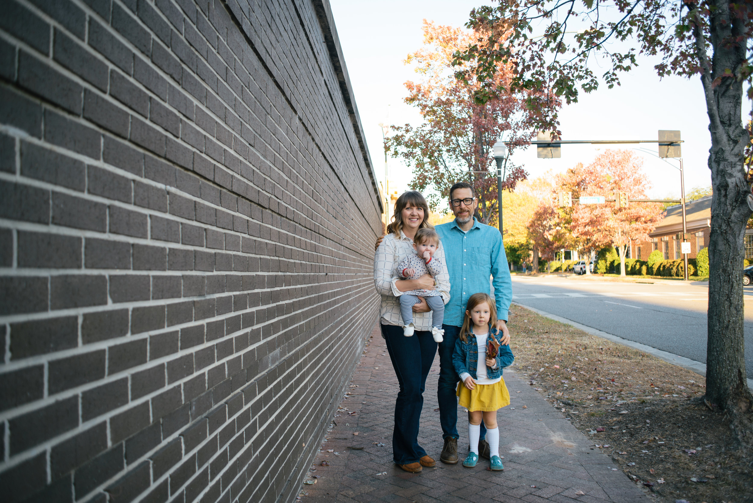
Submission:
{"label": "young girl in denim jacket, yellow skirt and white knee socks", "polygon": [[[502,346],[497,324],[497,309],[492,297],[473,294],[465,306],[465,320],[455,343],[453,366],[462,383],[458,384],[460,404],[468,409],[468,436],[471,452],[463,466],[473,468],[478,461],[481,419],[486,426],[492,470],[504,470],[499,457],[497,410],[510,404],[510,393],[502,379],[502,368],[514,360],[510,346]],[[496,353],[496,354],[495,354]],[[491,358],[490,358],[491,357]],[[477,365],[483,361],[485,364]]]}

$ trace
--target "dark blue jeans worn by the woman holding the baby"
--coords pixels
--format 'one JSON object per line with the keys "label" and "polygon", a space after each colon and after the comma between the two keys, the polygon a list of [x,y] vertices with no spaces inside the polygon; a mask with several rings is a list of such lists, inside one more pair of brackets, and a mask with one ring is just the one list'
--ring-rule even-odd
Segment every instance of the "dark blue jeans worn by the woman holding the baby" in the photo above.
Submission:
{"label": "dark blue jeans worn by the woman holding the baby", "polygon": [[411,337],[405,337],[402,327],[380,326],[400,383],[398,399],[395,400],[392,458],[398,465],[409,465],[426,456],[426,451],[418,443],[419,421],[426,376],[434,363],[437,343],[429,331],[415,331]]}

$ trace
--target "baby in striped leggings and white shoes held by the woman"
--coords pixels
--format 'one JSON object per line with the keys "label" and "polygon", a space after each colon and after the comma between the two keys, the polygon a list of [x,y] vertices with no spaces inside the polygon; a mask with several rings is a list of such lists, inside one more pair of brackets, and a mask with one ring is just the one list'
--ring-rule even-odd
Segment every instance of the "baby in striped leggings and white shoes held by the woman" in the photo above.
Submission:
{"label": "baby in striped leggings and white shoes held by the woman", "polygon": [[[413,248],[418,255],[408,255],[398,264],[398,276],[405,279],[419,279],[424,274],[437,276],[441,272],[441,264],[438,258],[434,258],[434,252],[439,248],[439,235],[434,229],[419,229],[413,237]],[[437,343],[441,343],[444,335],[442,322],[444,322],[444,300],[436,290],[411,290],[405,291],[400,296],[400,314],[403,317],[403,335],[413,335],[413,306],[419,302],[419,295],[426,300],[431,307],[431,335]]]}

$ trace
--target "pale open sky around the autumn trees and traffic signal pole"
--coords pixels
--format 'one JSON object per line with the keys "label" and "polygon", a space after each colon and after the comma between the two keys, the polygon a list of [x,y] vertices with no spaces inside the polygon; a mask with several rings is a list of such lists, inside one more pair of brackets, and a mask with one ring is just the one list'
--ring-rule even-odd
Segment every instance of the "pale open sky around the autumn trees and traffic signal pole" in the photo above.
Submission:
{"label": "pale open sky around the autumn trees and traffic signal pole", "polygon": [[[416,109],[403,102],[407,94],[404,82],[418,77],[403,61],[408,53],[422,45],[422,20],[460,27],[468,20],[471,9],[483,2],[330,1],[371,160],[377,176],[383,180],[384,154],[379,123],[414,126],[421,123]],[[710,185],[711,174],[706,162],[711,139],[700,78],[660,80],[653,69],[654,60],[644,58],[639,59],[639,63],[639,68],[620,75],[620,87],[609,90],[601,86],[594,93],[581,93],[578,103],[562,108],[562,139],[657,139],[658,130],[680,130],[684,140],[686,193],[693,187]],[[656,144],[634,146],[657,154]],[[679,197],[679,171],[651,154],[638,153],[645,160],[644,170],[653,185],[649,195]],[[563,145],[560,159],[537,159],[536,149],[531,146],[516,153],[514,160],[523,163],[529,177],[535,178],[547,170],[560,172],[579,162],[588,163],[596,154],[598,151],[591,145]],[[669,162],[678,164],[676,160]],[[397,159],[389,159],[388,167],[390,191],[397,190],[399,194],[406,190],[410,169]]]}

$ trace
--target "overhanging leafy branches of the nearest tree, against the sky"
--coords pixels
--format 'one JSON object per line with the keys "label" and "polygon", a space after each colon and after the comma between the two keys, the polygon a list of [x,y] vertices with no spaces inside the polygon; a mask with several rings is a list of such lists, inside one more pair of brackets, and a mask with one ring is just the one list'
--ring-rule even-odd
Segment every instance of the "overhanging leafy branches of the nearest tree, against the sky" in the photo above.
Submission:
{"label": "overhanging leafy branches of the nearest tree, against the sky", "polygon": [[[535,127],[551,129],[558,121],[556,99],[577,102],[579,93],[591,93],[600,84],[619,85],[620,73],[630,72],[639,54],[661,57],[655,66],[660,76],[702,72],[694,30],[708,34],[713,8],[689,0],[680,4],[670,0],[501,0],[495,7],[478,8],[471,14],[466,26],[486,37],[483,43],[456,53],[453,64],[463,65],[456,77],[466,83],[471,76],[475,78],[477,104],[506,91],[549,96],[553,101],[536,111]],[[732,17],[745,25],[745,36],[729,38],[729,42],[742,44],[753,23],[747,14],[749,6],[734,3],[729,8]],[[634,43],[617,45],[626,47],[617,50],[611,43],[630,40]],[[701,50],[708,49],[708,43],[702,44]],[[511,62],[514,71],[506,86],[495,81],[501,61]],[[599,76],[593,73],[597,67]],[[740,70],[740,78],[751,81],[753,71]]]}

